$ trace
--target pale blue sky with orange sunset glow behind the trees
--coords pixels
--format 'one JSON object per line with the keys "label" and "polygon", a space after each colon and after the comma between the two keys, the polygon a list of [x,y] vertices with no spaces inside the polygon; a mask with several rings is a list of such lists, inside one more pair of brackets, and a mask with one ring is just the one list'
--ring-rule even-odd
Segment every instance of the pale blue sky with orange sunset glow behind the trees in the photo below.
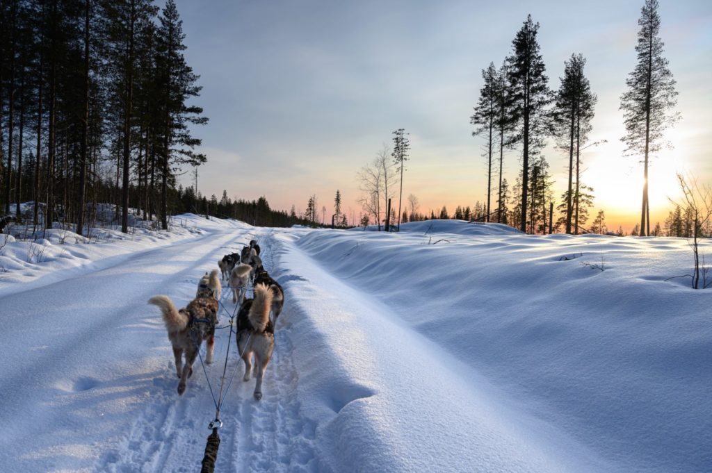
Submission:
{"label": "pale blue sky with orange sunset glow behind the trees", "polygon": [[[419,211],[474,206],[486,200],[484,140],[469,122],[481,71],[500,65],[528,14],[550,87],[557,89],[572,53],[598,96],[582,182],[595,190],[609,228],[640,219],[642,164],[624,156],[620,95],[636,62],[642,0],[590,1],[234,1],[177,0],[185,55],[200,75],[209,124],[194,130],[208,158],[199,190],[220,198],[265,196],[272,208],[304,211],[309,196],[358,217],[357,172],[392,132],[411,142],[403,198]],[[651,221],[663,223],[679,200],[676,172],[712,183],[712,2],[661,0],[661,38],[677,81],[682,119],[666,134],[670,147],[651,162]],[[567,156],[545,157],[555,196],[567,181]],[[520,151],[505,156],[511,183]],[[184,176],[184,184],[191,179]],[[493,206],[494,207],[494,206]]]}

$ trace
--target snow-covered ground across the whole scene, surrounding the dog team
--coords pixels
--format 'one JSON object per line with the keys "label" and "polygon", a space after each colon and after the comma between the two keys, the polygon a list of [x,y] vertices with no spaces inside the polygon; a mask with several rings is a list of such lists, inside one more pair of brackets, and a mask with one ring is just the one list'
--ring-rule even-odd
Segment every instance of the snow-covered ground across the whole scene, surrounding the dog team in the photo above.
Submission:
{"label": "snow-covered ground across the whole scene, surrounding the dog team", "polygon": [[197,364],[177,395],[146,301],[184,305],[251,238],[286,306],[260,402],[230,347],[216,471],[712,471],[712,289],[666,281],[689,272],[686,240],[179,218],[130,240],[51,237],[41,261],[0,250],[1,471],[199,469],[209,386]]}

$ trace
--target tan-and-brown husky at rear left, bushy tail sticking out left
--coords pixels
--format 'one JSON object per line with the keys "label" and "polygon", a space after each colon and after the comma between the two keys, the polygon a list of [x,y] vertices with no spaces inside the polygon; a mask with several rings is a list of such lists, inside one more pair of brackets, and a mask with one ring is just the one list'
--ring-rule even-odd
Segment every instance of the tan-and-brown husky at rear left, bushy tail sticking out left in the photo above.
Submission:
{"label": "tan-and-brown husky at rear left, bushy tail sticking out left", "polygon": [[[178,394],[183,394],[186,382],[193,374],[193,363],[203,341],[207,341],[208,345],[205,362],[213,362],[218,302],[213,297],[196,297],[187,307],[180,310],[176,309],[168,296],[151,297],[148,303],[161,309],[168,330],[168,339],[173,346],[176,374],[180,378]],[[185,354],[185,366],[183,354]]]}

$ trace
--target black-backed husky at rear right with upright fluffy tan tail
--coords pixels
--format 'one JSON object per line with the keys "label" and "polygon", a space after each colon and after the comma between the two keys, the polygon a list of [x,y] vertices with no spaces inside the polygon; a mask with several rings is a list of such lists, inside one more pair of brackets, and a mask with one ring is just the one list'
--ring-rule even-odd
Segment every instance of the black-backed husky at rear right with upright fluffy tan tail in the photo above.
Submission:
{"label": "black-backed husky at rear right with upright fluffy tan tail", "polygon": [[262,398],[262,378],[274,351],[274,326],[269,319],[272,292],[266,285],[256,285],[255,298],[246,299],[237,315],[237,350],[245,362],[245,376],[242,381],[250,381],[252,356],[255,356],[257,381],[256,400]]}

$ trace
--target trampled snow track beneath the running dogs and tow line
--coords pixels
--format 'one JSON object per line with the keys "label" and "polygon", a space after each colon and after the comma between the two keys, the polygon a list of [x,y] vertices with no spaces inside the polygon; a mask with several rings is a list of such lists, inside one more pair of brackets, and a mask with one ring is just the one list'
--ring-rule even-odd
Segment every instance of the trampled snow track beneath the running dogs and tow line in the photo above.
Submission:
{"label": "trampled snow track beneath the running dogs and tow line", "polygon": [[[241,233],[224,245],[240,245],[245,238],[258,239],[264,265],[278,279],[275,252],[279,249],[271,238],[272,233]],[[195,275],[196,282],[198,276],[199,271]],[[291,361],[293,344],[285,323],[290,317],[288,295],[286,297],[285,311],[276,329],[276,349],[263,384],[264,397],[259,402],[252,396],[254,378],[248,383],[242,381],[244,363],[236,354],[234,337],[231,340],[233,346],[230,347],[227,376],[235,375],[221,410],[224,426],[219,431],[221,447],[216,471],[318,471],[314,449],[316,425],[301,418],[300,403],[295,395],[298,373]],[[222,301],[230,311],[234,308],[225,290]],[[221,325],[226,319],[226,313],[222,312]],[[224,360],[226,353],[227,335],[226,330],[216,332],[216,363],[206,366],[211,382],[215,382],[218,372],[222,372],[220,360]],[[161,341],[163,339],[161,334]],[[202,347],[201,354],[204,352]],[[95,471],[158,473],[199,469],[205,440],[210,433],[207,424],[214,415],[213,401],[199,364],[194,365],[193,376],[182,396],[175,393],[177,378],[169,355],[164,371],[152,383],[145,407],[130,432],[117,449],[100,458]]]}

